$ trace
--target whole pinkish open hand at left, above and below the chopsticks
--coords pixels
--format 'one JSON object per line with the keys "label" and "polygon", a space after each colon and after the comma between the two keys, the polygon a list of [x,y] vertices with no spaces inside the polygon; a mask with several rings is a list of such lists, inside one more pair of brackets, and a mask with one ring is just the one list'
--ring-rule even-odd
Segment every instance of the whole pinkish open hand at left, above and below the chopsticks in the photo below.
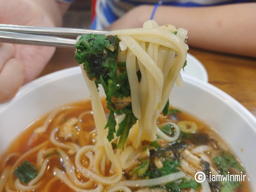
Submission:
{"label": "whole pinkish open hand at left, above and below the chopsticks", "polygon": [[[38,3],[39,0],[0,0],[0,23],[27,26],[60,25],[61,9],[55,0],[50,1],[55,4],[51,5],[48,0],[44,0],[44,3]],[[51,10],[47,10],[47,6]],[[55,16],[52,17],[50,12],[54,9]],[[0,43],[0,103],[12,99],[20,86],[35,79],[54,51],[54,47]]]}

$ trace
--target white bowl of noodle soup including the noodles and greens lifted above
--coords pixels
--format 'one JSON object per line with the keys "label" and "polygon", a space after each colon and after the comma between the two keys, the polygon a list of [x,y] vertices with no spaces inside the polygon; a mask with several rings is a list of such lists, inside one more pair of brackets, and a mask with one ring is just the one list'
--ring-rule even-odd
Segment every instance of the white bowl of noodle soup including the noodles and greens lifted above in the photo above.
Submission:
{"label": "white bowl of noodle soup including the noodles and greens lifted above", "polygon": [[185,39],[186,30],[154,21],[79,38],[80,67],[36,79],[0,105],[0,191],[256,189],[256,119],[180,75]]}

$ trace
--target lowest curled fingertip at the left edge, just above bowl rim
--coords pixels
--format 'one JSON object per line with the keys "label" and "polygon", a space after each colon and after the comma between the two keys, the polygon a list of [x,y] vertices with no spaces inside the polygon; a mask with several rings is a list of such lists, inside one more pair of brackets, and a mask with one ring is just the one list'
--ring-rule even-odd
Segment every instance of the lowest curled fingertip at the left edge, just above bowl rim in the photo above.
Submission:
{"label": "lowest curled fingertip at the left edge, just above bowl rim", "polygon": [[12,99],[25,79],[25,68],[19,60],[9,59],[0,71],[0,103]]}

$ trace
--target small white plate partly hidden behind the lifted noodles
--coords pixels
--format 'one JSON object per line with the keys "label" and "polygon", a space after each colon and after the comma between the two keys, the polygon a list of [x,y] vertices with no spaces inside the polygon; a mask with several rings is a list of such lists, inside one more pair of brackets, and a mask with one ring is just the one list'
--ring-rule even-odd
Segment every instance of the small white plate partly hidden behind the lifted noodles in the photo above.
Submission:
{"label": "small white plate partly hidden behind the lifted noodles", "polygon": [[187,54],[186,60],[187,65],[184,67],[184,71],[181,70],[181,75],[186,74],[201,81],[208,82],[208,74],[207,70],[204,68],[204,65],[189,53]]}

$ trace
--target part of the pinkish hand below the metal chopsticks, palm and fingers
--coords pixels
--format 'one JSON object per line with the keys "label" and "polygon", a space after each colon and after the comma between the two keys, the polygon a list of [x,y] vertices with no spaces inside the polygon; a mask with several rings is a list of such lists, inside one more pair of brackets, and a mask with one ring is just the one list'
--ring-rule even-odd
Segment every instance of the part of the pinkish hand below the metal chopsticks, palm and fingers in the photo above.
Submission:
{"label": "part of the pinkish hand below the metal chopsticks, palm and fingers", "polygon": [[54,47],[0,44],[0,103],[38,77],[54,52]]}

